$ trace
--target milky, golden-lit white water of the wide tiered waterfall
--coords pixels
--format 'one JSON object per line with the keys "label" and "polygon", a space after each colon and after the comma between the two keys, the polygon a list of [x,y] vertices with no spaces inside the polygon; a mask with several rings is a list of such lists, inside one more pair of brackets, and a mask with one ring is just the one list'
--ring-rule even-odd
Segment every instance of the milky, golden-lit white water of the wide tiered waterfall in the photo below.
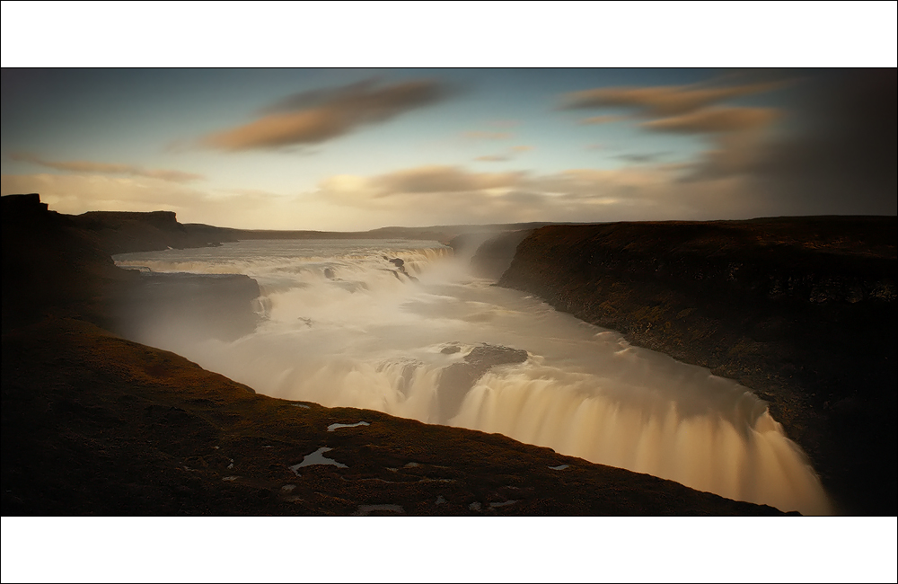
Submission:
{"label": "milky, golden-lit white water of the wide tiered waterfall", "polygon": [[[483,342],[524,349],[524,363],[481,377],[448,423],[731,499],[830,512],[806,456],[750,390],[474,278],[438,243],[259,241],[116,261],[257,279],[256,332],[197,343],[166,325],[136,340],[260,393],[434,422],[443,367]],[[462,350],[442,352],[451,343]]]}

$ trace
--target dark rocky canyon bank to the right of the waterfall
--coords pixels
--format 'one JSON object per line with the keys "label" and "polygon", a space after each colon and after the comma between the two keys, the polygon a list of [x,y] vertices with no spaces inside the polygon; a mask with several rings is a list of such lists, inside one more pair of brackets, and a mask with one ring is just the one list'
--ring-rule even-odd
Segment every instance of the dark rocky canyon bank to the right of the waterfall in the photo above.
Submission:
{"label": "dark rocky canyon bank to the right of the waterfall", "polygon": [[510,263],[499,285],[752,388],[837,509],[894,516],[896,232],[895,217],[546,226],[473,261]]}

